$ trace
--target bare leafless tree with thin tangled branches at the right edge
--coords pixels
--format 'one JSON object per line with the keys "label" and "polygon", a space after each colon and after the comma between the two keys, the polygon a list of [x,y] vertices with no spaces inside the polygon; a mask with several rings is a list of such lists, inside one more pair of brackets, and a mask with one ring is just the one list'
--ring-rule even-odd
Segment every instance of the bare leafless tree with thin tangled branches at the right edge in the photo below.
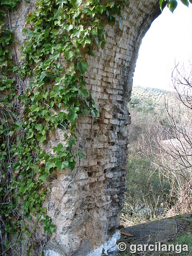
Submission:
{"label": "bare leafless tree with thin tangled branches at the right edge", "polygon": [[192,71],[177,65],[172,73],[175,102],[165,101],[166,125],[143,131],[138,151],[155,156],[154,163],[172,183],[175,212],[192,209]]}

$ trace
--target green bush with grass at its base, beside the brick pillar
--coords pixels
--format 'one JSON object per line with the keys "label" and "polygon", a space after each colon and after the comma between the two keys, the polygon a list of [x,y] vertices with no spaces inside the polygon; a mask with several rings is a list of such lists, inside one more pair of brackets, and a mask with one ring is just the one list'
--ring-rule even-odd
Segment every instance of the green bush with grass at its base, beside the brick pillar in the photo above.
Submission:
{"label": "green bush with grass at its base, beside the brick pillar", "polygon": [[[155,168],[152,159],[143,158],[139,154],[130,156],[127,181],[127,203],[132,207],[138,208],[138,214],[143,214],[141,212],[144,212],[145,217],[147,215],[150,217],[152,214],[158,215],[160,204],[166,201],[166,195],[169,194],[170,184]],[[145,201],[149,203],[151,208],[146,209],[145,206],[143,209]]]}

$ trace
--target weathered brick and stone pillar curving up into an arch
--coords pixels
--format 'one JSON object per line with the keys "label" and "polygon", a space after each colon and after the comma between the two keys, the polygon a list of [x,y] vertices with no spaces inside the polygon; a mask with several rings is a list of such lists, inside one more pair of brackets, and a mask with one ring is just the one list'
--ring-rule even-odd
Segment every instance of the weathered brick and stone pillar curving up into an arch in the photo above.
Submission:
{"label": "weathered brick and stone pillar curving up into an arch", "polygon": [[[24,1],[22,6],[18,11],[23,14],[17,35],[24,26],[24,17],[34,8]],[[45,247],[47,256],[99,256],[102,244],[113,236],[119,225],[126,191],[128,124],[131,122],[127,102],[141,40],[159,14],[159,0],[127,0],[121,26],[119,22],[113,28],[107,26],[105,48],[96,47],[95,57],[86,57],[87,89],[96,101],[99,116],[79,119],[76,146],[85,157],[73,172],[58,171],[47,180],[50,194],[45,204],[57,226]],[[12,17],[12,23],[14,19]],[[22,44],[21,38],[19,44]],[[49,151],[58,143],[65,141],[62,131],[56,130],[43,147]],[[41,243],[46,239],[43,234],[38,237]],[[94,250],[96,254],[90,254]],[[26,254],[24,247],[22,254]]]}

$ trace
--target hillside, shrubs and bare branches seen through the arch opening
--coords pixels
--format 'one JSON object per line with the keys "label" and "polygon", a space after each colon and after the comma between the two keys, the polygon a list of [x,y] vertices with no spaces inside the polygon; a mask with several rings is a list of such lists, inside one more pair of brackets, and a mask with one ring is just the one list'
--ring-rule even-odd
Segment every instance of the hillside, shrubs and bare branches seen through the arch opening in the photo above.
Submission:
{"label": "hillside, shrubs and bare branches seen through the arch opening", "polygon": [[176,71],[175,92],[138,86],[128,102],[128,190],[122,224],[192,210],[192,86],[179,86],[183,77],[178,79]]}

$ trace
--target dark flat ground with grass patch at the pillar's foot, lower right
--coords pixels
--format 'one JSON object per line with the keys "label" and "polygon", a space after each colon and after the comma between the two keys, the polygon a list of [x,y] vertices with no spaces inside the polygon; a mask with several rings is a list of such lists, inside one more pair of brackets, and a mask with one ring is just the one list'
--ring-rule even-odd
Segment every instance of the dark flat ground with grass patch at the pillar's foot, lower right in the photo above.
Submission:
{"label": "dark flat ground with grass patch at the pillar's foot, lower right", "polygon": [[[132,227],[124,227],[121,231],[123,234],[117,242],[117,244],[122,243],[119,245],[120,249],[122,249],[118,253],[119,256],[192,256],[192,213],[177,215]],[[125,235],[125,233],[127,234]],[[144,246],[144,244],[151,244],[151,247]],[[169,250],[169,244],[173,244],[174,250],[172,250],[173,247],[170,247]],[[181,244],[181,252],[180,246],[176,246],[176,244]],[[188,251],[186,251],[184,244],[188,245]],[[125,245],[127,247],[126,250],[124,250]]]}

